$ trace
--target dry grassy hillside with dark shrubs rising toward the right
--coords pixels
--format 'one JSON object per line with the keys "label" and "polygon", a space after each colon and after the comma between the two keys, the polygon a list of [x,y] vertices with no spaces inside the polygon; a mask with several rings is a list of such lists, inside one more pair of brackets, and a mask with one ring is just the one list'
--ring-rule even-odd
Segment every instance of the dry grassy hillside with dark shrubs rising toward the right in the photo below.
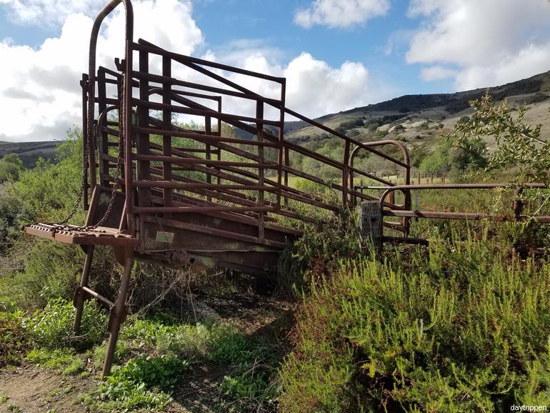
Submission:
{"label": "dry grassy hillside with dark shrubs rising toward the right", "polygon": [[[451,129],[461,116],[472,113],[469,101],[479,99],[486,90],[495,101],[506,98],[513,107],[526,106],[526,120],[543,124],[544,131],[550,130],[550,72],[489,89],[400,96],[316,120],[359,140],[399,139],[408,142],[408,146],[432,146],[439,141],[442,131]],[[287,138],[304,143],[324,134],[302,121],[286,122],[285,133]]]}

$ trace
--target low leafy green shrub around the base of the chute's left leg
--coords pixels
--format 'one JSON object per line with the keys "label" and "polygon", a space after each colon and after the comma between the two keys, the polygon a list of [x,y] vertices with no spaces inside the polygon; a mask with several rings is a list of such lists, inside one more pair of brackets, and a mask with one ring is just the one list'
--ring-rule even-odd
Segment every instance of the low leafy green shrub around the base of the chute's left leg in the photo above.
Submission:
{"label": "low leafy green shrub around the base of the chute's left leg", "polygon": [[106,314],[95,302],[86,302],[78,336],[74,336],[72,330],[73,320],[73,305],[63,299],[53,299],[44,309],[24,319],[24,327],[34,342],[46,349],[89,348],[104,338]]}

